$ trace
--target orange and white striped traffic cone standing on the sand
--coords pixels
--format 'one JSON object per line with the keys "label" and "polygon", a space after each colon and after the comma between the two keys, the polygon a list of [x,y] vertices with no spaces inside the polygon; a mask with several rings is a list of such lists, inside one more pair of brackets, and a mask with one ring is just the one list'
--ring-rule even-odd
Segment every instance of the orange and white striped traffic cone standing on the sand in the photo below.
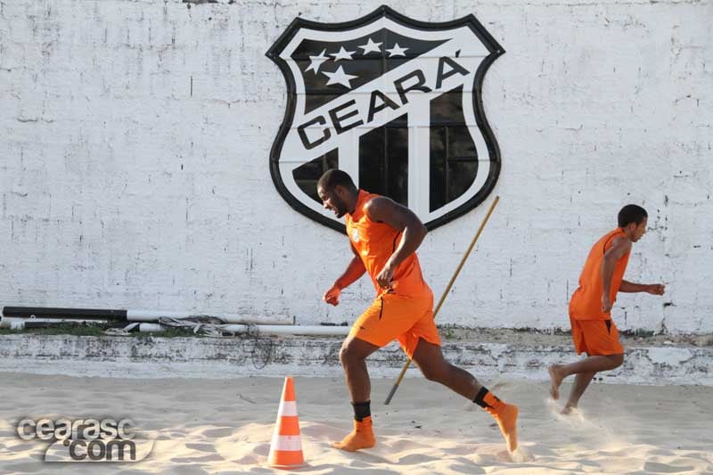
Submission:
{"label": "orange and white striped traffic cone standing on the sand", "polygon": [[302,441],[299,437],[299,419],[297,417],[297,399],[292,377],[284,379],[283,398],[277,411],[275,432],[270,444],[267,464],[275,469],[297,469],[305,465],[302,455]]}

